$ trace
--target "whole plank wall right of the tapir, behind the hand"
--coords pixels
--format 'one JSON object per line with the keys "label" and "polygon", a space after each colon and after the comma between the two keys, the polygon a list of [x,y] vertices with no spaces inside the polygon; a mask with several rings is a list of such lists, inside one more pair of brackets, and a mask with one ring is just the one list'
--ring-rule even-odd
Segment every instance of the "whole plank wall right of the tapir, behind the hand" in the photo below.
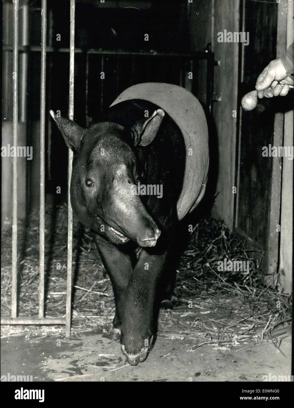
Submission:
{"label": "whole plank wall right of the tapir, behind the hand", "polygon": [[[293,96],[259,100],[254,111],[240,108],[263,68],[293,41],[293,1],[206,0],[189,4],[191,50],[212,43],[213,124],[218,175],[213,216],[263,251],[263,270],[286,293],[292,287],[293,161],[262,157],[262,147],[293,146]],[[217,41],[221,31],[249,32],[249,44]],[[199,78],[202,80],[202,78]],[[232,113],[237,111],[237,117]],[[283,169],[283,170],[282,170]],[[237,194],[233,194],[233,186]],[[276,231],[281,222],[281,233]]]}

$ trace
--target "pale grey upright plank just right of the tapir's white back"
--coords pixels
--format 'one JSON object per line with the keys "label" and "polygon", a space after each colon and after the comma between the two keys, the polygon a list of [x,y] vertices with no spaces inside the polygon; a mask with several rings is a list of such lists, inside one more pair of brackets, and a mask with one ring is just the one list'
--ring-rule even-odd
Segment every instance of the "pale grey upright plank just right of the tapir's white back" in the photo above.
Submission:
{"label": "pale grey upright plank just right of the tapir's white back", "polygon": [[[235,156],[238,93],[239,43],[218,42],[218,33],[239,32],[239,0],[223,0],[214,2],[213,10],[213,51],[219,65],[214,72],[214,93],[218,102],[213,105],[218,139],[218,193],[213,207],[213,216],[225,220],[229,228],[233,228],[235,186]],[[244,46],[245,47],[245,46]]]}

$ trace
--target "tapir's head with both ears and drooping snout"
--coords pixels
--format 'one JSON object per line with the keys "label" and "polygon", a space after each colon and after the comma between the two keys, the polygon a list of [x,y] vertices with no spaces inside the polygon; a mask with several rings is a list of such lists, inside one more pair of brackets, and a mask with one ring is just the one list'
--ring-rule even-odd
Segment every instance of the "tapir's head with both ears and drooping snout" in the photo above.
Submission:
{"label": "tapir's head with both ears and drooping snout", "polygon": [[132,239],[143,247],[155,246],[160,230],[134,194],[140,174],[133,146],[151,143],[164,111],[158,109],[130,129],[113,122],[83,129],[50,114],[74,152],[70,198],[79,221],[113,244]]}

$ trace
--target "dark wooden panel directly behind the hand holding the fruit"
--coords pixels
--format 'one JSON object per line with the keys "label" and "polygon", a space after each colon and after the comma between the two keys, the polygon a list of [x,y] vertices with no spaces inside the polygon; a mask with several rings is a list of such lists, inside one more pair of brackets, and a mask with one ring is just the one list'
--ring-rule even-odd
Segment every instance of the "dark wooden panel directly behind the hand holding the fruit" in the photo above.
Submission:
{"label": "dark wooden panel directly behind the hand holding the fruit", "polygon": [[[276,58],[277,3],[245,1],[244,78],[240,96],[254,89],[257,75]],[[236,229],[268,248],[272,158],[262,157],[262,147],[273,143],[275,100],[263,100],[257,109],[242,111],[239,137],[239,185]],[[262,106],[264,105],[264,106]],[[266,257],[265,257],[266,259]],[[266,265],[267,266],[267,265]]]}

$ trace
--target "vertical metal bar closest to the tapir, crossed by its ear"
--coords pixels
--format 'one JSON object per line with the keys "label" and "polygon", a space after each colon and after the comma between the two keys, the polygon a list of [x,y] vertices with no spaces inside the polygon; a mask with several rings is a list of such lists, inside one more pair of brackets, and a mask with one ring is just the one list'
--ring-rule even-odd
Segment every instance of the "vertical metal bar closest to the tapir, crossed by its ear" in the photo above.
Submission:
{"label": "vertical metal bar closest to the tapir, crossed by its ear", "polygon": [[[69,107],[68,118],[74,116],[75,80],[75,0],[70,0],[70,59],[69,59]],[[72,292],[72,207],[70,205],[70,180],[73,152],[68,149],[68,244],[67,244],[67,288],[66,288],[66,337],[70,335],[71,292]]]}

